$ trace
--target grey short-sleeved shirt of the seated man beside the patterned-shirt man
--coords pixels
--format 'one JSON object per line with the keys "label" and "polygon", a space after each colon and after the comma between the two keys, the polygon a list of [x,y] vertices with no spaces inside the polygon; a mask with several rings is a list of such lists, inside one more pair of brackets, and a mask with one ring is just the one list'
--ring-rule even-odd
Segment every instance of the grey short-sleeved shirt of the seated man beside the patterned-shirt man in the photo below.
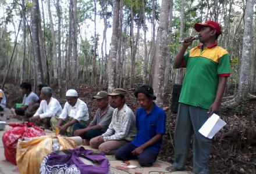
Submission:
{"label": "grey short-sleeved shirt of the seated man beside the patterned-shirt man", "polygon": [[112,115],[113,115],[113,108],[111,106],[107,106],[104,113],[101,114],[101,109],[98,108],[96,111],[95,117],[93,121],[90,122],[90,125],[99,125],[101,126],[101,131],[106,131],[108,129],[109,124],[111,123]]}

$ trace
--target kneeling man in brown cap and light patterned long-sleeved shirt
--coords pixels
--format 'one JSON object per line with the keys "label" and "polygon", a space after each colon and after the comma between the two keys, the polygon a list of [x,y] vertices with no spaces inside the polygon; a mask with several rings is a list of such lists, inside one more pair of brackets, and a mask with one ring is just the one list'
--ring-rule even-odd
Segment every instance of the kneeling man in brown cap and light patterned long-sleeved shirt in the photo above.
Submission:
{"label": "kneeling man in brown cap and light patterned long-sleeved shirt", "polygon": [[112,96],[113,111],[112,121],[108,129],[101,136],[90,140],[90,146],[99,148],[101,153],[112,155],[119,147],[129,143],[136,135],[135,115],[131,108],[125,104],[126,90],[116,88]]}

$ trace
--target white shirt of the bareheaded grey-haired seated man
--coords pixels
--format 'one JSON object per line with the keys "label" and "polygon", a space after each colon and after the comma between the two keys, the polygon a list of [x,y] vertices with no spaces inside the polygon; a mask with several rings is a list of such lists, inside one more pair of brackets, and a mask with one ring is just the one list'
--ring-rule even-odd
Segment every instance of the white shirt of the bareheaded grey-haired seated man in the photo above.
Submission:
{"label": "white shirt of the bareheaded grey-haired seated man", "polygon": [[57,99],[54,99],[54,97],[51,97],[49,104],[47,104],[46,100],[41,101],[40,107],[38,108],[34,116],[39,115],[39,117],[43,119],[43,118],[52,117],[52,116],[59,117],[61,113],[62,113],[61,104],[59,104],[59,101]]}

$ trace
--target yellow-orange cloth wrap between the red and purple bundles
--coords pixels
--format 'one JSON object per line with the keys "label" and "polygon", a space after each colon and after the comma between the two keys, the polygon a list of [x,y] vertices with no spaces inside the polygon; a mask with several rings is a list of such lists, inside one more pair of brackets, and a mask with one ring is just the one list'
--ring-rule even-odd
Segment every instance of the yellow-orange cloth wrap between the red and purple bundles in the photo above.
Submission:
{"label": "yellow-orange cloth wrap between the red and purple bundles", "polygon": [[52,139],[54,138],[59,141],[59,150],[77,147],[73,139],[63,136],[41,136],[30,140],[20,139],[17,144],[16,162],[21,174],[39,173],[42,160],[52,152]]}

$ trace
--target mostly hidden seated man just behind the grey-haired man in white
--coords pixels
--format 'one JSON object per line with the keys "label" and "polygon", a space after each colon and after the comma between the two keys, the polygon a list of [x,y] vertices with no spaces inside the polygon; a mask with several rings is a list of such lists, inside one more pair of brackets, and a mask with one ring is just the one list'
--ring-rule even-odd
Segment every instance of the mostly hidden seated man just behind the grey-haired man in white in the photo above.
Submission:
{"label": "mostly hidden seated man just behind the grey-haired man in white", "polygon": [[27,118],[32,117],[35,114],[35,112],[37,111],[38,107],[40,106],[40,103],[42,101],[42,99],[40,97],[41,96],[41,89],[43,87],[46,87],[46,86],[47,85],[44,85],[44,84],[40,84],[40,85],[37,86],[37,96],[39,97],[39,100],[38,100],[37,103],[30,103],[29,104],[29,107],[27,107],[27,110],[25,111],[25,116]]}

